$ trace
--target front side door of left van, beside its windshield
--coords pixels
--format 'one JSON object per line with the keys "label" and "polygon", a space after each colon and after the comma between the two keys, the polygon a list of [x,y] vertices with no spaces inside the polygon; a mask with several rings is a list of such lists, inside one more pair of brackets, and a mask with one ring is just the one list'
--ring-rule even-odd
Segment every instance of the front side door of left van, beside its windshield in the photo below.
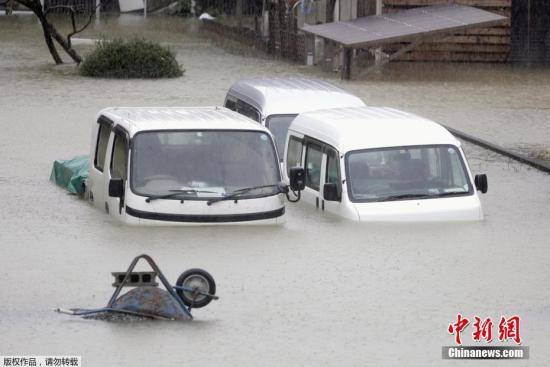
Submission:
{"label": "front side door of left van, beside its windshield", "polygon": [[119,126],[113,132],[112,144],[110,145],[110,160],[107,180],[105,180],[106,207],[108,212],[115,218],[121,219],[125,215],[124,197],[109,196],[109,181],[111,178],[122,178],[124,192],[128,189],[128,134]]}

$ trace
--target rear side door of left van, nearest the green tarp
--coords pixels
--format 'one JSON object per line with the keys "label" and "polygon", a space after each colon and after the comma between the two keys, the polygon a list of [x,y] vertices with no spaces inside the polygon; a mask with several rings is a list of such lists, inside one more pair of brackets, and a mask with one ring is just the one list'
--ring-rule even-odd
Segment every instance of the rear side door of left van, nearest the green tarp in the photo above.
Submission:
{"label": "rear side door of left van, nearest the green tarp", "polygon": [[[107,146],[112,131],[112,121],[101,116],[94,126],[95,134],[92,135],[92,147],[90,157],[90,173],[88,179],[90,201],[100,209],[105,208],[105,162]],[[108,164],[107,164],[108,166]]]}

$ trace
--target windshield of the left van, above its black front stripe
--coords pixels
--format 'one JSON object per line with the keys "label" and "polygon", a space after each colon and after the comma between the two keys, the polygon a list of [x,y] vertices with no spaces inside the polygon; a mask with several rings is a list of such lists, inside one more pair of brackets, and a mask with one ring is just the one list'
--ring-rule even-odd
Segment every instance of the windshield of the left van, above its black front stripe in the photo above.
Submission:
{"label": "windshield of the left van, above its black front stripe", "polygon": [[[261,131],[149,131],[132,140],[131,188],[138,195],[174,192],[196,200],[236,190],[276,185],[279,164],[271,137]],[[273,195],[277,187],[247,191],[240,198]]]}

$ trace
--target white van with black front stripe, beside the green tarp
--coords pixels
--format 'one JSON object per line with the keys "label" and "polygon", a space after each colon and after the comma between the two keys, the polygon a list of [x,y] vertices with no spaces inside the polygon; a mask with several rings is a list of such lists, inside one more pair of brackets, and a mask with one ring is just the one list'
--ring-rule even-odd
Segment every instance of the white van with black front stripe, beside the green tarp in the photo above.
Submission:
{"label": "white van with black front stripe, beside the green tarp", "polygon": [[130,224],[280,223],[270,132],[223,107],[107,108],[92,129],[86,191]]}

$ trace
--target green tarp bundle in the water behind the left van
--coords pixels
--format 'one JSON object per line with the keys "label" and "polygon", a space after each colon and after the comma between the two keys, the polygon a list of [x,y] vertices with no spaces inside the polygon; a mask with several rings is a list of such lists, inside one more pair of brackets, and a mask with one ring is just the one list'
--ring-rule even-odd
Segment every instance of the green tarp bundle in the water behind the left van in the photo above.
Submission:
{"label": "green tarp bundle in the water behind the left van", "polygon": [[84,181],[88,178],[90,157],[79,155],[69,160],[53,162],[50,181],[73,194],[84,193]]}

